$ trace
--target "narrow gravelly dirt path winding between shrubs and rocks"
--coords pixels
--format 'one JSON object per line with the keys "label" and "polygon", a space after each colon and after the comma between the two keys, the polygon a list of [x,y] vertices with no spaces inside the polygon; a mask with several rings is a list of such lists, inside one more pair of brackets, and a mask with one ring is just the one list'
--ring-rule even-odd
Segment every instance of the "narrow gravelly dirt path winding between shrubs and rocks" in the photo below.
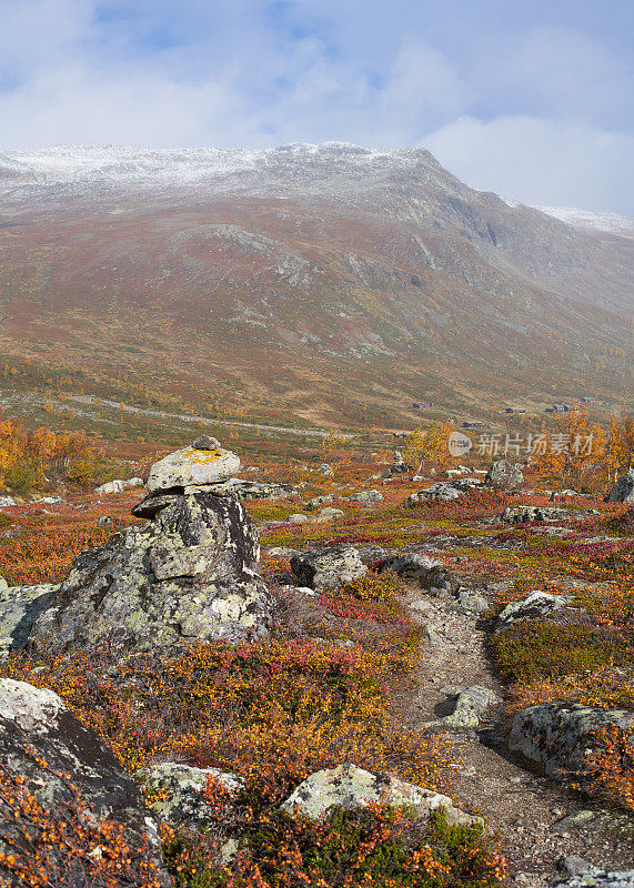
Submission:
{"label": "narrow gravelly dirt path winding between shrubs and rocks", "polygon": [[[485,652],[486,628],[473,616],[446,609],[450,599],[430,597],[410,587],[413,616],[441,638],[423,647],[416,688],[399,702],[404,724],[420,726],[453,712],[459,689],[483,685],[504,697]],[[500,709],[489,710],[477,730],[452,730],[464,761],[457,797],[474,805],[504,837],[505,850],[516,868],[517,885],[546,885],[562,877],[556,861],[576,856],[596,866],[631,868],[632,839],[614,830],[597,829],[595,819],[584,829],[557,821],[582,810],[605,810],[554,780],[533,774],[509,754]],[[442,728],[436,728],[442,729]]]}

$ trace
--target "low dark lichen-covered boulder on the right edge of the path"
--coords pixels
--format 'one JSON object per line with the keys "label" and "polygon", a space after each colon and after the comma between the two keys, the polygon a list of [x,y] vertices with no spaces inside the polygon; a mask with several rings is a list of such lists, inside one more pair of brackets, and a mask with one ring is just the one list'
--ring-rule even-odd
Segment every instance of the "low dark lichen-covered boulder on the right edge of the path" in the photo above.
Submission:
{"label": "low dark lichen-covered boulder on the right edge of the path", "polygon": [[[509,747],[542,765],[550,777],[580,779],[588,773],[590,759],[596,749],[595,733],[608,726],[634,727],[634,713],[572,703],[544,703],[517,713]],[[634,754],[634,740],[631,745]]]}

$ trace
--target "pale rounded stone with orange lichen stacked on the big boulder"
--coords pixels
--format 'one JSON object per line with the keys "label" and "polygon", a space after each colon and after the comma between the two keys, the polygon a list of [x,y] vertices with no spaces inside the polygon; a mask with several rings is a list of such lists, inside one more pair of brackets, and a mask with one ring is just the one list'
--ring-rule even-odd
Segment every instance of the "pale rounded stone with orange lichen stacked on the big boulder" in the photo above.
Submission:
{"label": "pale rounded stone with orange lichen stacked on the big boulder", "polygon": [[172,487],[220,484],[240,470],[240,457],[231,451],[183,447],[153,463],[148,477],[148,492]]}

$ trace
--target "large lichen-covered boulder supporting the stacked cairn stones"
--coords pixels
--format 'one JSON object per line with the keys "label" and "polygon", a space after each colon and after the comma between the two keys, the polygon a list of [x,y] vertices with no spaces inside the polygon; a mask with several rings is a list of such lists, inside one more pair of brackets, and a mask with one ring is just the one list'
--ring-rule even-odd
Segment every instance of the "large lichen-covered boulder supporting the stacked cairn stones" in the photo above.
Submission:
{"label": "large lichen-covered boulder supporting the stacked cairn stones", "polygon": [[235,500],[209,491],[170,495],[152,522],[74,559],[29,645],[151,649],[265,635],[270,601],[254,569],[259,555],[255,531]]}

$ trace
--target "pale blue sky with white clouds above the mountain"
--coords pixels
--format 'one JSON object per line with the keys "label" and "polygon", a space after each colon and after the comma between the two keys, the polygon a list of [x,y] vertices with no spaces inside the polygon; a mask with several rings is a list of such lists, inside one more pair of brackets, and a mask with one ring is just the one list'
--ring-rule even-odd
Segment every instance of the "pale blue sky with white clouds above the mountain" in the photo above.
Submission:
{"label": "pale blue sky with white clouds above the mountain", "polygon": [[631,0],[0,0],[0,150],[424,147],[634,215]]}

